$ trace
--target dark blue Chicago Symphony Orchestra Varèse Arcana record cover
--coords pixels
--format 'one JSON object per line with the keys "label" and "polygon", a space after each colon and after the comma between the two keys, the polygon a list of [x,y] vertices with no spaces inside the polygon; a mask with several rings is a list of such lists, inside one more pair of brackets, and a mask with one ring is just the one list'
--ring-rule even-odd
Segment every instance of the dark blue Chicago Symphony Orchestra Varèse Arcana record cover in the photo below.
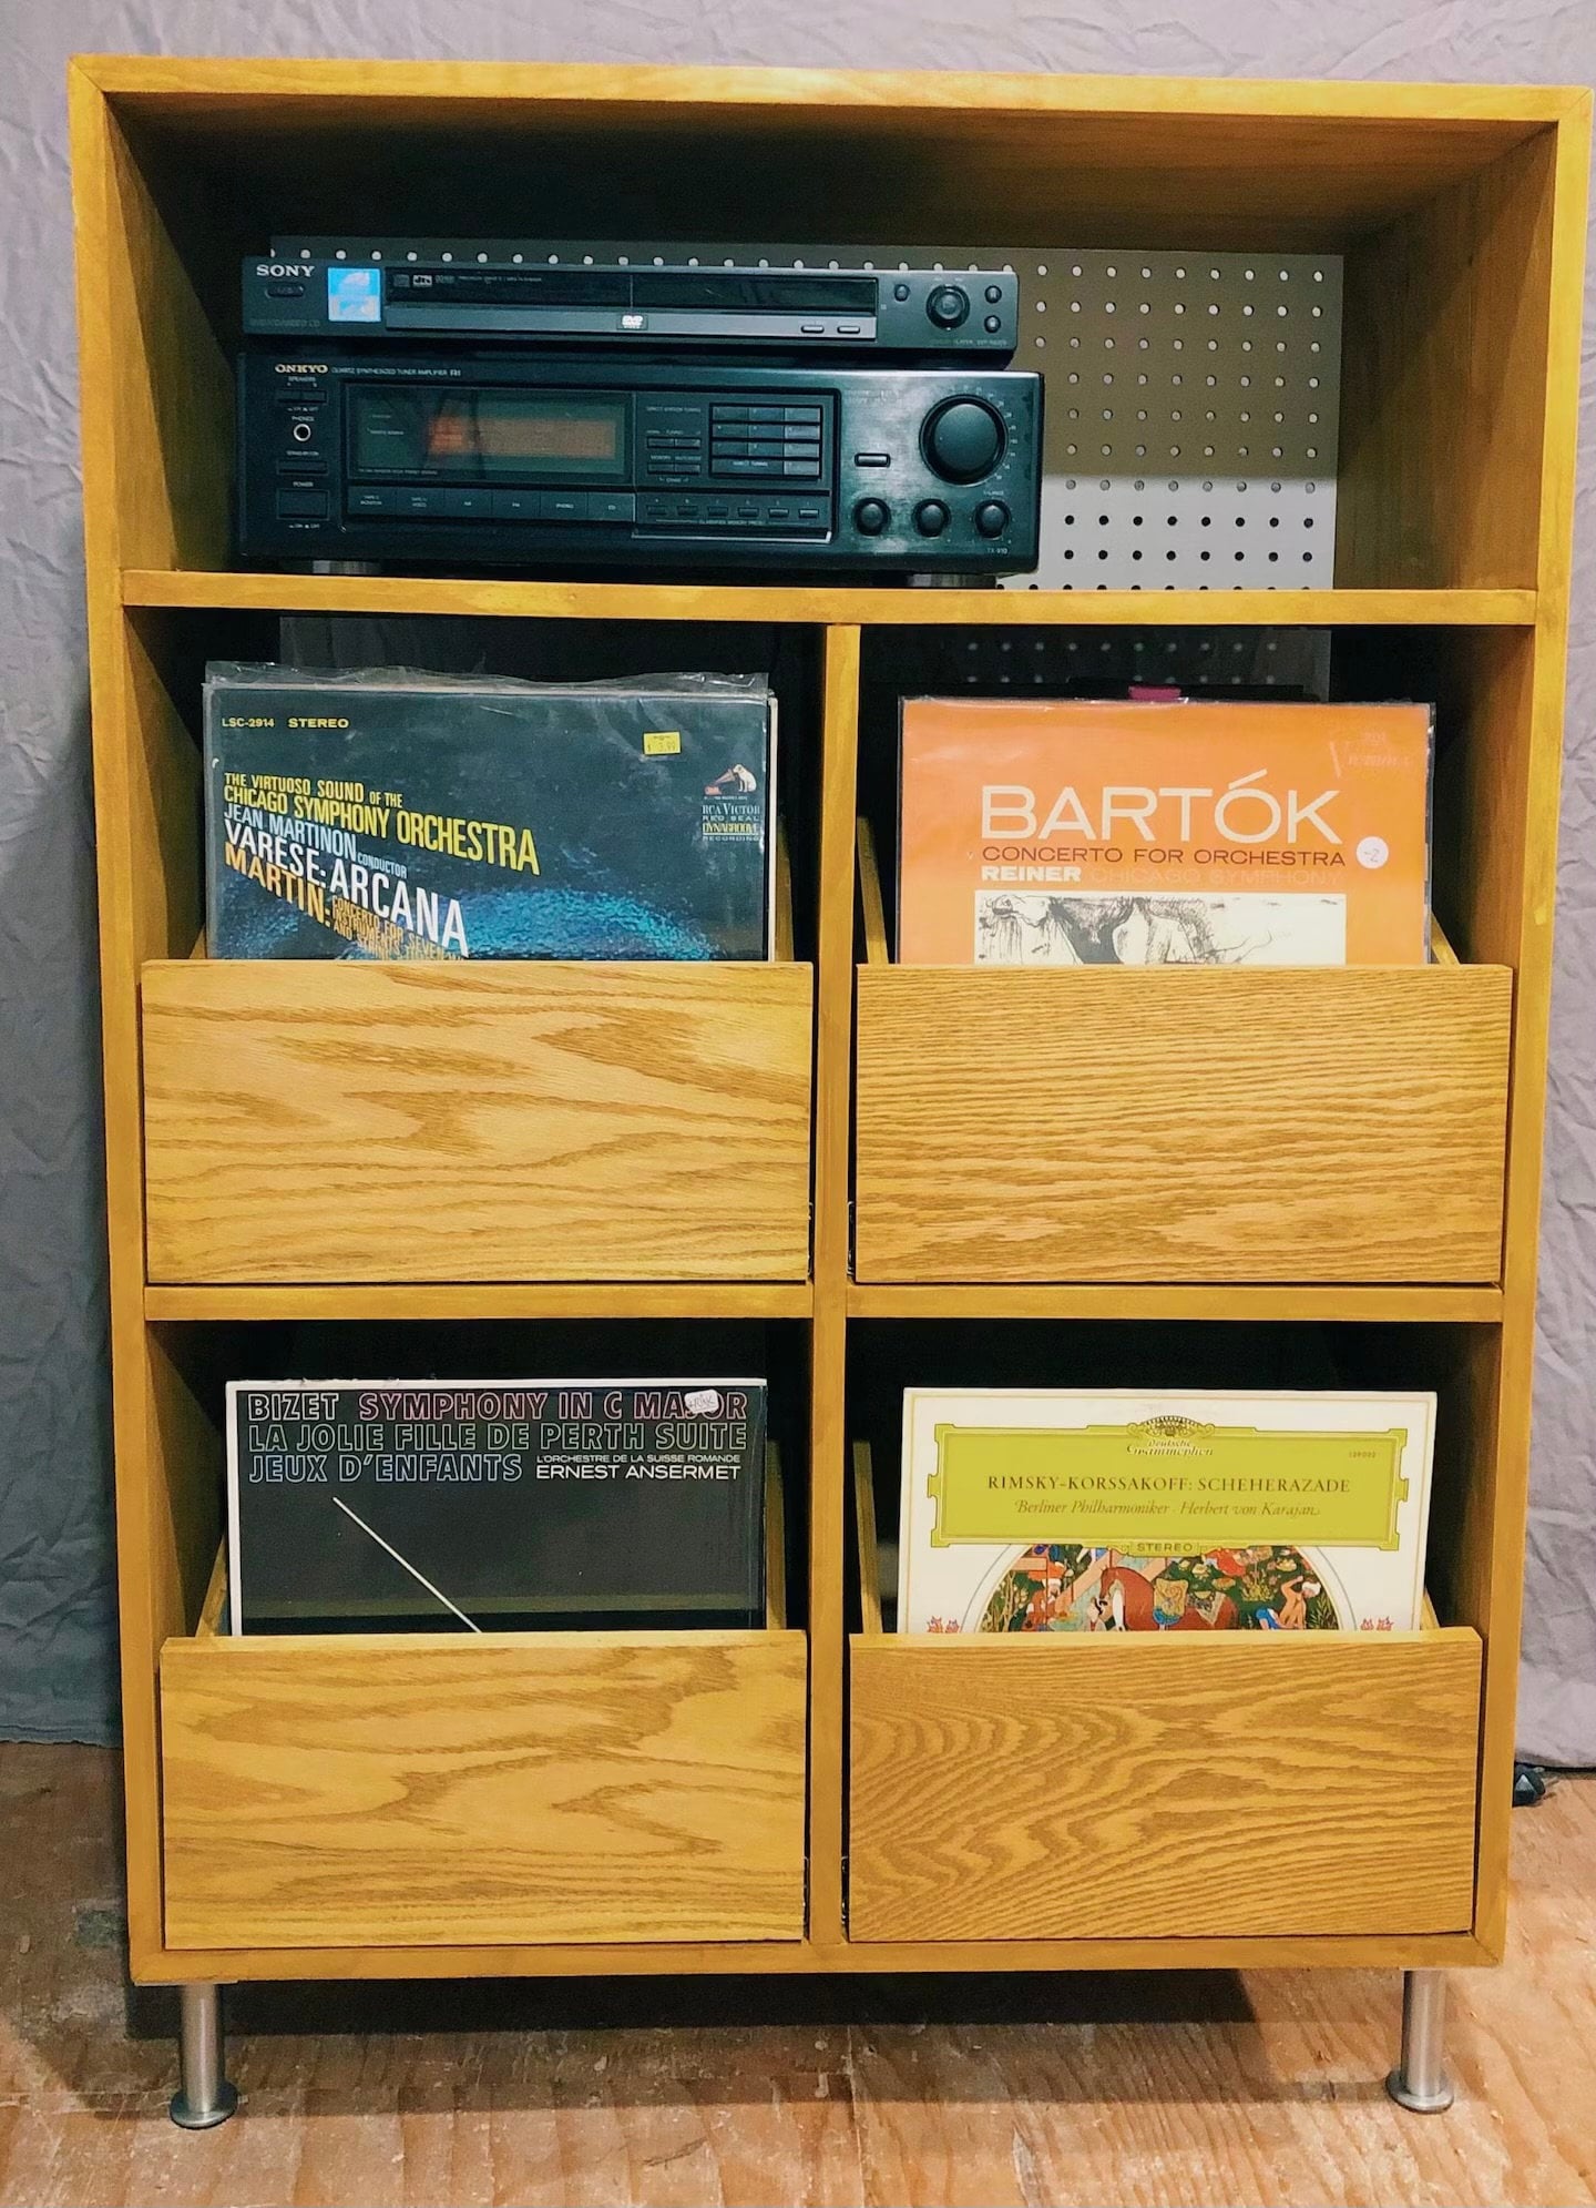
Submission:
{"label": "dark blue Chicago Symphony Orchestra Var\u00e8se Arcana record cover", "polygon": [[212,958],[766,958],[757,676],[205,673]]}

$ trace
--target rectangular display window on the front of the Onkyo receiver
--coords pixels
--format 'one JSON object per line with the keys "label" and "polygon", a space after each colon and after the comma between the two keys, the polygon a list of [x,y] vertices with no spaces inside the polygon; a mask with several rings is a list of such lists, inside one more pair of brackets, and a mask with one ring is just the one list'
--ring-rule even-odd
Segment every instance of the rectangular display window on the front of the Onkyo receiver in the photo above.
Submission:
{"label": "rectangular display window on the front of the Onkyo receiver", "polygon": [[358,475],[627,481],[627,402],[521,391],[351,391]]}

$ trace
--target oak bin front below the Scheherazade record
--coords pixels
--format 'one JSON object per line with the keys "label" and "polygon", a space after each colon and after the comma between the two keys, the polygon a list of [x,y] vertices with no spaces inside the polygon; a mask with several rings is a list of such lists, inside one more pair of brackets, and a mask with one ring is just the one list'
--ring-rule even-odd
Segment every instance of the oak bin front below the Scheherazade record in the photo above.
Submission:
{"label": "oak bin front below the Scheherazade record", "polygon": [[1479,1636],[856,1636],[856,1941],[1455,1932]]}

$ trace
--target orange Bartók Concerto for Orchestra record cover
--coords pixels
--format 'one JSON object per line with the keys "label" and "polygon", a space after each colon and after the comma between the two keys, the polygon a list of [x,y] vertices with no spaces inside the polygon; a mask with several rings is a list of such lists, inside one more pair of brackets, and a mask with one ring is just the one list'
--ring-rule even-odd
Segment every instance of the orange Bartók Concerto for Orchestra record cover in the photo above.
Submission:
{"label": "orange Bart\u00f3k Concerto for Orchestra record cover", "polygon": [[905,698],[903,965],[1424,965],[1428,704]]}

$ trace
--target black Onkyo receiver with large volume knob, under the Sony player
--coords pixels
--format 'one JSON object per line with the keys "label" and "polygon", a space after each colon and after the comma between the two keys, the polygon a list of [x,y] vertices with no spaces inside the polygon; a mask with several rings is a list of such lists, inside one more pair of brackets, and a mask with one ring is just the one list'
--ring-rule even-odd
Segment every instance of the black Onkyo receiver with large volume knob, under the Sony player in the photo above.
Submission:
{"label": "black Onkyo receiver with large volume knob, under the Sony player", "polygon": [[245,559],[874,574],[1038,559],[1042,384],[978,360],[256,340],[238,384]]}

